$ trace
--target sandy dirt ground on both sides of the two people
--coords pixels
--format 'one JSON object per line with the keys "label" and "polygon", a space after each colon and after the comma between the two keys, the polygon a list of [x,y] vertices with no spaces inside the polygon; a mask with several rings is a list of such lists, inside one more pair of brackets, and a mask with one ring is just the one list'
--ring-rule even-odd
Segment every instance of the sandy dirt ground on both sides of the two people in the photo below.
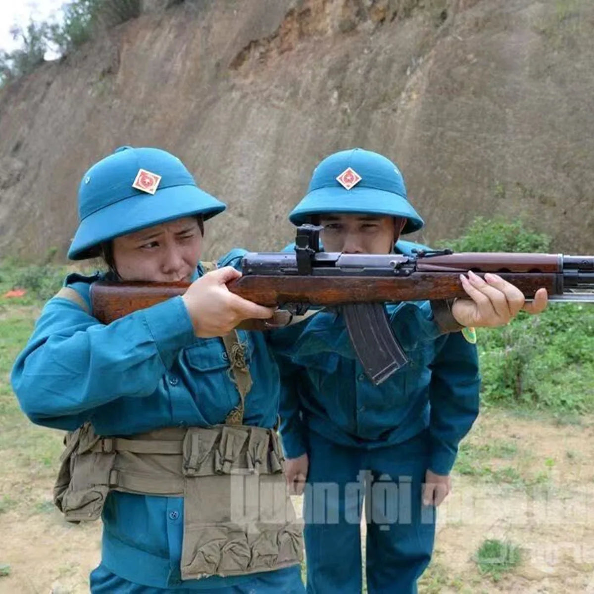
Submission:
{"label": "sandy dirt ground on both sides of the two people", "polygon": [[[40,431],[55,451],[59,434]],[[594,418],[555,425],[483,414],[460,453],[420,591],[594,594],[593,443]],[[0,593],[88,592],[100,525],[62,521],[50,503],[52,463],[23,472],[11,450],[0,456],[0,566],[10,565]],[[485,538],[507,538],[524,551],[520,567],[499,582],[472,560]]]}

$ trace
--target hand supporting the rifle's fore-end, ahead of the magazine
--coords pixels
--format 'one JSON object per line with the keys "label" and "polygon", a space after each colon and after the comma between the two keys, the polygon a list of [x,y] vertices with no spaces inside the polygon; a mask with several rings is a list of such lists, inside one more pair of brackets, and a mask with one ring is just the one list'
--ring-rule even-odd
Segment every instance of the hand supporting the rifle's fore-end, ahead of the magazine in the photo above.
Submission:
{"label": "hand supporting the rifle's fore-end, ahead of the magazine", "polygon": [[540,314],[546,308],[546,289],[539,289],[532,303],[526,303],[522,292],[497,274],[485,274],[485,280],[470,271],[460,275],[470,299],[456,299],[451,312],[456,321],[467,327],[496,327],[508,324],[520,311]]}

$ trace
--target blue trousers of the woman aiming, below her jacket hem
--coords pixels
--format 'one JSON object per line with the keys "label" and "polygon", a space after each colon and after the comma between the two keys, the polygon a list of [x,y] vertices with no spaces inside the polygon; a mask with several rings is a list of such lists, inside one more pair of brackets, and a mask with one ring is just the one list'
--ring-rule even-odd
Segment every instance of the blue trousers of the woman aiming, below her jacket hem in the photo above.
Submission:
{"label": "blue trousers of the woman aiming, below her jacket hem", "polygon": [[189,588],[162,589],[128,582],[111,573],[103,565],[91,572],[91,594],[304,594],[299,565],[276,571],[258,574],[253,580],[236,586],[208,588],[202,590]]}

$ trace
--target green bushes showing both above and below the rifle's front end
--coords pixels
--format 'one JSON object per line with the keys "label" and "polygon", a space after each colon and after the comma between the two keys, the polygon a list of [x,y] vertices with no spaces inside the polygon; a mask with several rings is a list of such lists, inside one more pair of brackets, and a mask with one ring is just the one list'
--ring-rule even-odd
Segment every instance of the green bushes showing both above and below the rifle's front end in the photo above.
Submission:
{"label": "green bushes showing both above and below the rifle's front end", "polygon": [[[522,221],[478,217],[454,251],[547,252],[551,240]],[[594,307],[551,304],[539,316],[520,312],[504,328],[479,328],[482,403],[546,409],[594,410]]]}

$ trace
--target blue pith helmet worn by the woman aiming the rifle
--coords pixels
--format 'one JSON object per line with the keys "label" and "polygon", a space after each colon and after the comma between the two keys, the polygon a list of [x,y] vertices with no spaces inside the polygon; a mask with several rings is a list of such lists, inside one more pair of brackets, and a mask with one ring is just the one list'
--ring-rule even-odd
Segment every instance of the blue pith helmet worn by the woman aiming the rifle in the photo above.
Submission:
{"label": "blue pith helmet worn by the woman aiming the rifle", "polygon": [[198,188],[178,157],[161,149],[120,147],[95,163],[80,182],[80,224],[68,258],[91,258],[103,241],[193,214],[210,219],[225,208]]}

